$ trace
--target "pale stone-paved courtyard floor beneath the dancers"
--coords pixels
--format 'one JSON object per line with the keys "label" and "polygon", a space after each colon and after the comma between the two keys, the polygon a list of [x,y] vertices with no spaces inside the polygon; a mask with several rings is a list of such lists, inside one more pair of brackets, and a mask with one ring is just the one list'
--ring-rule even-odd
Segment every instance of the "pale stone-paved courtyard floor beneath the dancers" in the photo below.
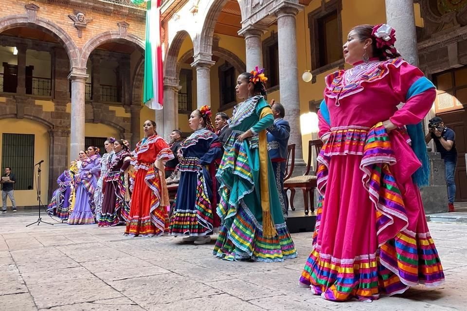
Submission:
{"label": "pale stone-paved courtyard floor beneath the dancers", "polygon": [[[29,211],[0,215],[1,311],[467,310],[467,225],[429,223],[447,281],[372,303],[334,303],[298,286],[311,233],[294,234],[297,259],[229,262],[169,236],[127,238],[123,227],[25,225]],[[464,279],[464,280],[463,280]]]}

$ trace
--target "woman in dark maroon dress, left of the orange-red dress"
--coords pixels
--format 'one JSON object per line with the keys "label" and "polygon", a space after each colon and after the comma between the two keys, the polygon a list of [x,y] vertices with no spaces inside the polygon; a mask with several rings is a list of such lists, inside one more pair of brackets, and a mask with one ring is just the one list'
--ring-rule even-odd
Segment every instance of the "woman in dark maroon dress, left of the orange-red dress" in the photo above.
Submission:
{"label": "woman in dark maroon dress, left of the orange-red dress", "polygon": [[131,154],[121,151],[113,155],[108,164],[108,171],[104,176],[102,186],[103,201],[99,226],[118,225],[129,221],[129,185],[125,173],[130,165]]}

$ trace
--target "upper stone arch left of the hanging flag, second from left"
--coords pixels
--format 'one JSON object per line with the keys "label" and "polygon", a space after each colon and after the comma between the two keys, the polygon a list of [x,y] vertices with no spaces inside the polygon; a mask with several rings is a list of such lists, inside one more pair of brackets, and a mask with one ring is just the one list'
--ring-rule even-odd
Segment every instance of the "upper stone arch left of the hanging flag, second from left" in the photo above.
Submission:
{"label": "upper stone arch left of the hanging flag, second from left", "polygon": [[115,41],[127,41],[130,44],[137,46],[140,51],[144,54],[144,40],[139,38],[136,35],[127,34],[126,36],[122,35],[118,30],[106,31],[99,35],[96,35],[88,40],[81,51],[81,57],[79,59],[80,68],[86,68],[89,55],[94,51],[98,46]]}

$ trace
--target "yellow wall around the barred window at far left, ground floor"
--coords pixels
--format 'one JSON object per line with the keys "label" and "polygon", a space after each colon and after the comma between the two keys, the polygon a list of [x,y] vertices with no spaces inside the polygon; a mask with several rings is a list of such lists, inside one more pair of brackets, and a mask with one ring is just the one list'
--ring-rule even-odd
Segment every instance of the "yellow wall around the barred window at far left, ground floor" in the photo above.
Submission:
{"label": "yellow wall around the barred window at far left, ground floor", "polygon": [[[49,180],[49,145],[50,138],[47,128],[40,123],[35,121],[30,121],[26,119],[3,119],[0,120],[0,155],[2,148],[2,138],[3,133],[15,133],[15,134],[34,134],[34,163],[37,163],[40,160],[44,160],[42,163],[42,173],[41,173],[41,201],[42,204],[47,204],[47,189],[48,189],[48,180]],[[9,165],[7,163],[1,163],[0,166]],[[12,167],[12,172],[15,173],[15,168]],[[35,168],[34,168],[35,169]],[[33,168],[31,168],[33,170]],[[35,170],[36,172],[36,170]],[[1,172],[2,174],[4,172]],[[34,178],[36,178],[34,174]],[[17,206],[35,206],[37,203],[37,194],[36,194],[36,180],[34,181],[33,190],[15,190],[15,200]],[[11,206],[10,200],[7,200],[8,206]]]}

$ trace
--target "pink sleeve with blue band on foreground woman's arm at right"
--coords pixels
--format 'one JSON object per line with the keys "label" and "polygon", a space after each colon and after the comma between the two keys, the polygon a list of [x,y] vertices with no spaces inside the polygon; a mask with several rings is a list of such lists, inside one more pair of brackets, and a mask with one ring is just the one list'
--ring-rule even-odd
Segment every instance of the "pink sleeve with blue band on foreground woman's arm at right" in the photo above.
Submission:
{"label": "pink sleeve with blue band on foreground woman's arm at right", "polygon": [[431,81],[423,76],[420,69],[405,61],[399,67],[390,67],[389,78],[397,99],[405,103],[390,121],[403,126],[423,120],[436,97]]}

